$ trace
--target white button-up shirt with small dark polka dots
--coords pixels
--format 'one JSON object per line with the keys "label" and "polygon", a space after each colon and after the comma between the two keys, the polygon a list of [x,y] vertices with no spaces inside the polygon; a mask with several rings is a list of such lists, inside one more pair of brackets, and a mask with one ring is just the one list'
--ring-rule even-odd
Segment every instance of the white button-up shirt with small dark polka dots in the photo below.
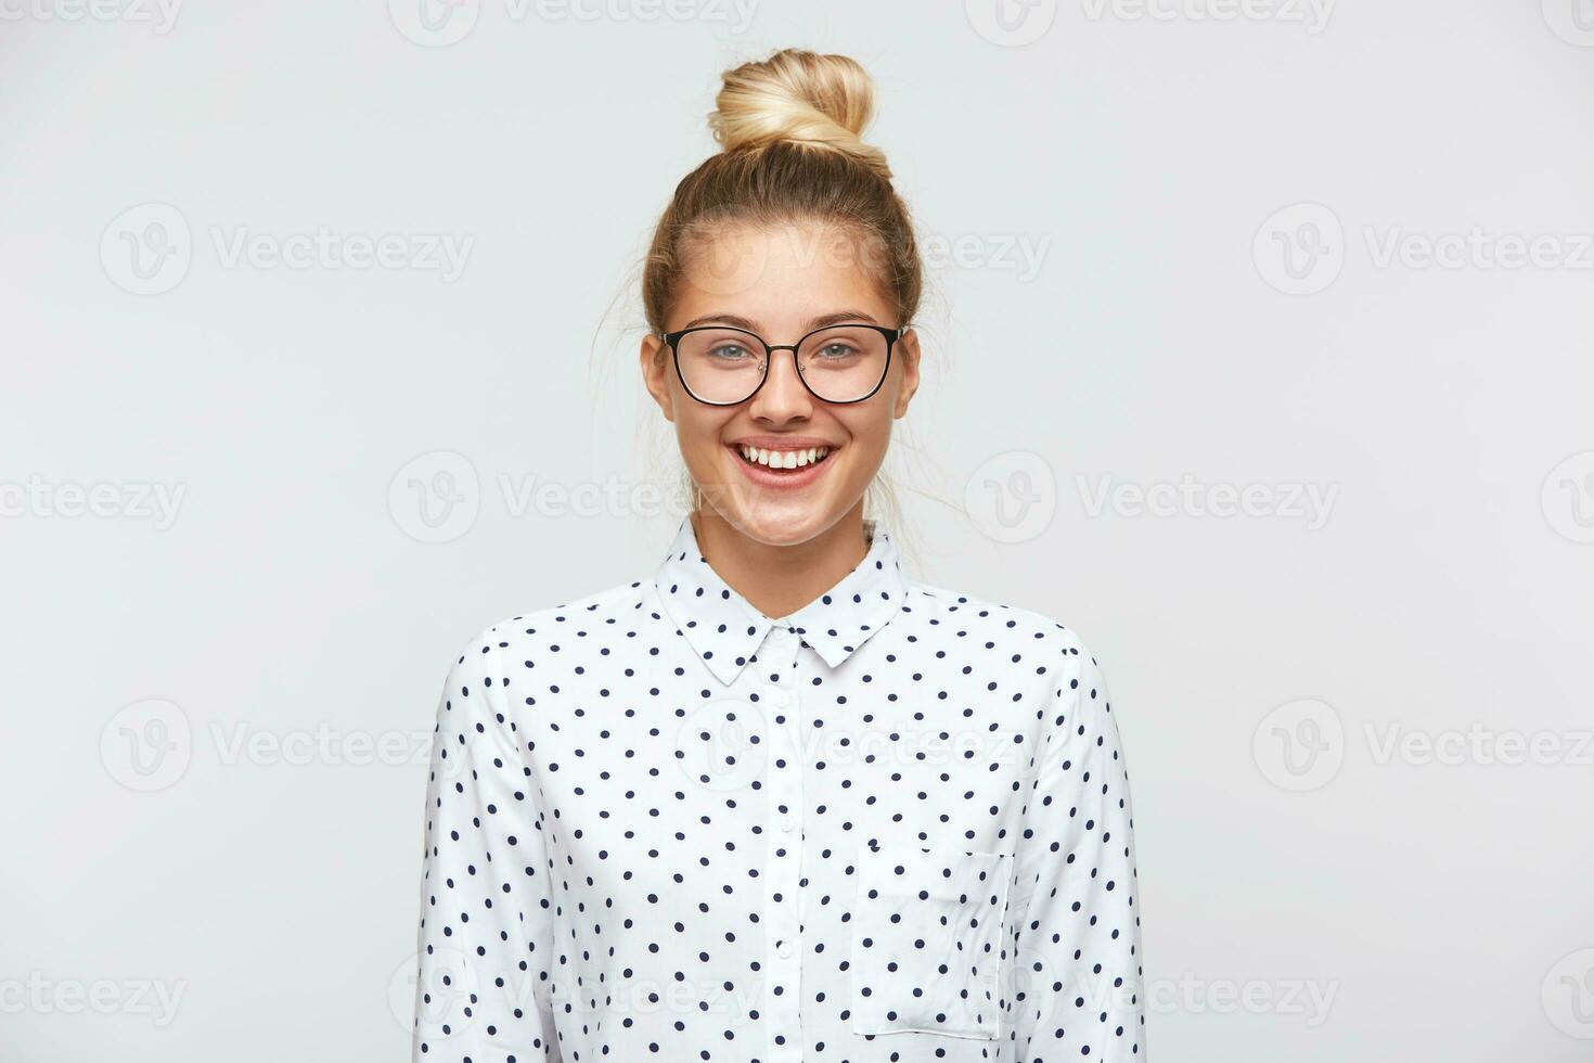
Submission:
{"label": "white button-up shirt with small dark polka dots", "polygon": [[414,1060],[1144,1058],[1129,776],[1047,617],[869,556],[771,620],[689,518],[437,712]]}

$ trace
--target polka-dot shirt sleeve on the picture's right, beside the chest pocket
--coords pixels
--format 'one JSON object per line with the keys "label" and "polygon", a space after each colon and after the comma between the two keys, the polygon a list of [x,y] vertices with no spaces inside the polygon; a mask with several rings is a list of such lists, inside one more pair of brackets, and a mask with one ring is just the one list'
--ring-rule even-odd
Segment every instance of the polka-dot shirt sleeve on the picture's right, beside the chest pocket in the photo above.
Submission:
{"label": "polka-dot shirt sleeve on the picture's right, beside the chest pocket", "polygon": [[1146,1058],[1133,806],[1100,665],[1065,649],[1031,754],[1014,885],[1022,1063]]}

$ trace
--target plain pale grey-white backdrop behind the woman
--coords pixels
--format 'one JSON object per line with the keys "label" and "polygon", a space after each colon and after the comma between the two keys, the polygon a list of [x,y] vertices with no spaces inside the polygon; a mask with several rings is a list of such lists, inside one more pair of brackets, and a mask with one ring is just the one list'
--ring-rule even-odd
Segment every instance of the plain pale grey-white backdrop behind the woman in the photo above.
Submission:
{"label": "plain pale grey-white backdrop behind the woman", "polygon": [[0,1057],[406,1058],[443,674],[668,545],[636,268],[787,45],[912,567],[1113,684],[1148,1058],[1594,1053],[1594,6],[419,2],[0,0]]}

